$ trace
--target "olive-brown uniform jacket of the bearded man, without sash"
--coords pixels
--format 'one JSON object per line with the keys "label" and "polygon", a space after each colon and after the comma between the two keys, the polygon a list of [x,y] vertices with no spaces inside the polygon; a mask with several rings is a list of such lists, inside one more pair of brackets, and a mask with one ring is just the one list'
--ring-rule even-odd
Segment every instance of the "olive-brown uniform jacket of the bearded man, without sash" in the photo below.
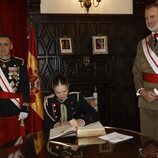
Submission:
{"label": "olive-brown uniform jacket of the bearded man, without sash", "polygon": [[[154,46],[153,37],[150,34],[147,38],[147,44],[149,47],[155,52],[158,56],[158,43]],[[145,82],[143,81],[143,73],[154,73],[154,70],[151,68],[150,64],[148,63],[142,47],[142,41],[139,41],[137,47],[137,54],[135,57],[134,65],[133,65],[133,75],[134,75],[134,84],[136,91],[140,88],[145,89],[158,89],[157,83]],[[139,97],[138,106],[142,108],[158,110],[158,99],[152,103],[148,103],[142,97]]]}

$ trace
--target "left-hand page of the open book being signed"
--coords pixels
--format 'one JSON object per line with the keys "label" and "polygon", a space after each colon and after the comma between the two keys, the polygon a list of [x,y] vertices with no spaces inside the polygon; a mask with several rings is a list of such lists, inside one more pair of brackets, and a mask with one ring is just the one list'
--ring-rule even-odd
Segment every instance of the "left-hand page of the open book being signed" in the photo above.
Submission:
{"label": "left-hand page of the open book being signed", "polygon": [[58,137],[68,136],[69,134],[76,135],[76,127],[72,127],[70,125],[64,125],[64,126],[52,128],[49,131],[49,140],[55,139]]}

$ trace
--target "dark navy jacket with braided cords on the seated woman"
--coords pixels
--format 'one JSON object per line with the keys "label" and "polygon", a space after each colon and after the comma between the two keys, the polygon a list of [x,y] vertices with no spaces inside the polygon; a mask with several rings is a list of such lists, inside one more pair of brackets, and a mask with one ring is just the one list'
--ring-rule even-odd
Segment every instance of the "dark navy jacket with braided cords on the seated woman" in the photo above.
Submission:
{"label": "dark navy jacket with braided cords on the seated woman", "polygon": [[70,93],[64,102],[59,101],[53,94],[47,96],[44,107],[46,129],[53,128],[54,124],[62,122],[62,119],[66,121],[83,119],[86,124],[98,121],[97,111],[83,99],[79,92]]}

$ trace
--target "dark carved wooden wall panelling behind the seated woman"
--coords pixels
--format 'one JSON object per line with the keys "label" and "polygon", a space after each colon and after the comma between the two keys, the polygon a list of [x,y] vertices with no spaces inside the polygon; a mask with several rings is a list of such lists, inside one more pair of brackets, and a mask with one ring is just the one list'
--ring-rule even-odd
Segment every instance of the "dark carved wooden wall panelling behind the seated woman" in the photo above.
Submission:
{"label": "dark carved wooden wall panelling behind the seated woman", "polygon": [[[44,95],[51,93],[54,75],[63,73],[71,90],[90,96],[97,88],[104,125],[139,130],[132,66],[137,43],[146,33],[145,1],[134,1],[133,15],[39,14],[36,5],[35,0],[30,3],[30,19],[36,29]],[[92,54],[92,36],[99,34],[108,37],[108,55]],[[72,38],[73,55],[60,54],[59,38],[64,36]]]}

